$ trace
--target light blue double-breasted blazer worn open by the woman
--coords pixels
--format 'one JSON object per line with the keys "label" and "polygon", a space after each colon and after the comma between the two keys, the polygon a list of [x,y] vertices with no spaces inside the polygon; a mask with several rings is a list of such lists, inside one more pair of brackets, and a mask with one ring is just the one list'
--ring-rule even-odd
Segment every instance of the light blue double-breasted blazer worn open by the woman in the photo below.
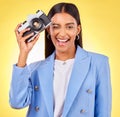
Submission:
{"label": "light blue double-breasted blazer worn open by the woman", "polygon": [[[29,106],[27,117],[53,117],[55,53],[24,68],[13,66],[10,105]],[[111,82],[108,58],[77,47],[62,117],[110,117]]]}

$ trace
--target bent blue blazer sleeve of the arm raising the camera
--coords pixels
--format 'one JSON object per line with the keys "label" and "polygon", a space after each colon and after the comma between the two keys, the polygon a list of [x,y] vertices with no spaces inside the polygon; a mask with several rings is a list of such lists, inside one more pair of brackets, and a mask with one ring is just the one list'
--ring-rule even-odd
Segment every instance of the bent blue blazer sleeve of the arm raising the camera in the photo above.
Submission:
{"label": "bent blue blazer sleeve of the arm raising the camera", "polygon": [[9,102],[13,108],[23,108],[30,104],[32,84],[28,67],[13,66]]}

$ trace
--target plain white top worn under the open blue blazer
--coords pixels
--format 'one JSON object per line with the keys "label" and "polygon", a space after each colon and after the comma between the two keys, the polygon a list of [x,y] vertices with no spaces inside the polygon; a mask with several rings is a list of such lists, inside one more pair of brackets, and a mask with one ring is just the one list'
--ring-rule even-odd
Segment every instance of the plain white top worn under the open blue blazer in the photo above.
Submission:
{"label": "plain white top worn under the open blue blazer", "polygon": [[61,117],[74,59],[55,60],[54,65],[54,117]]}

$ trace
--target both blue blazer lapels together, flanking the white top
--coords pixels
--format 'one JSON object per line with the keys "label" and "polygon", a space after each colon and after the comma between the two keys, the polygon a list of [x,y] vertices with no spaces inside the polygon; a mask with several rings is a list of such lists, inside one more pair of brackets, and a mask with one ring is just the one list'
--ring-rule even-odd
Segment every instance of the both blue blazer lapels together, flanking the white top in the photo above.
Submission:
{"label": "both blue blazer lapels together, flanking the white top", "polygon": [[[50,117],[53,117],[53,70],[54,70],[54,58],[55,52],[49,56],[38,68],[38,73],[40,76],[40,85],[45,100],[45,104]],[[69,81],[69,86],[66,94],[66,100],[63,109],[63,117],[67,115],[72,106],[72,103],[86,78],[87,72],[89,70],[90,57],[88,53],[77,47],[74,66]]]}

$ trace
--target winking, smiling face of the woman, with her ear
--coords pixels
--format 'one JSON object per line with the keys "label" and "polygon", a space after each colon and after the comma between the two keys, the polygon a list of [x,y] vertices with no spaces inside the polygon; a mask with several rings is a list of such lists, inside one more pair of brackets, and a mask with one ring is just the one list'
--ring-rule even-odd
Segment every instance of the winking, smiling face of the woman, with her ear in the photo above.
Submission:
{"label": "winking, smiling face of the woman, with her ear", "polygon": [[75,38],[80,32],[75,18],[68,13],[56,13],[51,18],[49,34],[58,52],[69,52],[75,49]]}

